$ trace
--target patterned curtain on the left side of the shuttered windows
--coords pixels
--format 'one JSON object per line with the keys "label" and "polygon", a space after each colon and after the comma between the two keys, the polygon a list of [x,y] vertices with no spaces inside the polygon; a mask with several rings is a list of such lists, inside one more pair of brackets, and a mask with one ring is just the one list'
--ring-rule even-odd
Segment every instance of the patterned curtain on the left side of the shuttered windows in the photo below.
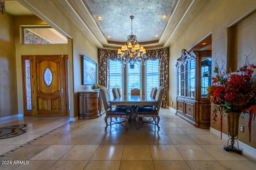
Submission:
{"label": "patterned curtain on the left side of the shuttered windows", "polygon": [[117,53],[114,50],[99,49],[98,51],[99,60],[99,84],[108,88],[108,60],[116,60]]}

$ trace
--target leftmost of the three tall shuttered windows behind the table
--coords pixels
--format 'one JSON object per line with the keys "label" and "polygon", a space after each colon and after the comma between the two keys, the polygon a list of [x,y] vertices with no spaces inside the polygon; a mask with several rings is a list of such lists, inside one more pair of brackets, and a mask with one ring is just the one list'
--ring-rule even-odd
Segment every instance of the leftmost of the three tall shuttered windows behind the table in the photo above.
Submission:
{"label": "leftmost of the three tall shuttered windows behind the table", "polygon": [[110,99],[113,100],[112,88],[120,88],[122,91],[122,64],[119,61],[109,60],[109,92]]}

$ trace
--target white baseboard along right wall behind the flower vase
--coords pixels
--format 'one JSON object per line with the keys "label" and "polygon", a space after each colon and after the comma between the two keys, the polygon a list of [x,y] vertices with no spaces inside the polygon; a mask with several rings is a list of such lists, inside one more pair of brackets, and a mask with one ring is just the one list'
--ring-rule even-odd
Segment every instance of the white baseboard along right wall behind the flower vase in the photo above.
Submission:
{"label": "white baseboard along right wall behind the flower vase", "polygon": [[[213,133],[214,135],[220,137],[220,131],[210,127],[210,132]],[[222,140],[225,140],[227,141],[227,144],[228,144],[228,135],[222,133]],[[253,148],[253,147],[250,147],[249,145],[246,145],[245,143],[242,143],[241,141],[238,141],[239,142],[239,148],[240,149],[243,149],[243,154],[244,155],[250,155],[250,156],[253,156],[254,158],[256,158],[256,149]],[[235,147],[237,147],[237,143],[235,142],[234,144]]]}

